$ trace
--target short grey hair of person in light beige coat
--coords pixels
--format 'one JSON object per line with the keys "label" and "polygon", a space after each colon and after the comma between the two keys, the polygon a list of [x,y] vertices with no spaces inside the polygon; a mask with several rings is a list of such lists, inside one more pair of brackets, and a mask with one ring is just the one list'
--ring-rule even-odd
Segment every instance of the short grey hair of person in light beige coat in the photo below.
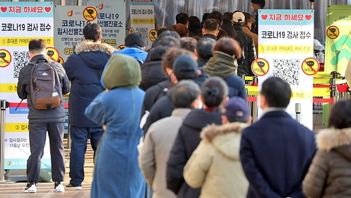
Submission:
{"label": "short grey hair of person in light beige coat", "polygon": [[172,102],[176,108],[191,108],[200,94],[200,87],[193,80],[180,80],[173,88]]}

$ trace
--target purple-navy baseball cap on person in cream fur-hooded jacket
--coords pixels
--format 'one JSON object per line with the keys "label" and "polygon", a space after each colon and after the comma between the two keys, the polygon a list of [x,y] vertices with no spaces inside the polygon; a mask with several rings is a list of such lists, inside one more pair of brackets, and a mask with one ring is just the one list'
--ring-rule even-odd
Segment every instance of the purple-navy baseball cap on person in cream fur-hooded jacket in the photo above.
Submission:
{"label": "purple-navy baseball cap on person in cream fur-hooded jacket", "polygon": [[224,104],[223,114],[230,122],[246,122],[249,118],[249,107],[247,101],[240,97],[232,97]]}

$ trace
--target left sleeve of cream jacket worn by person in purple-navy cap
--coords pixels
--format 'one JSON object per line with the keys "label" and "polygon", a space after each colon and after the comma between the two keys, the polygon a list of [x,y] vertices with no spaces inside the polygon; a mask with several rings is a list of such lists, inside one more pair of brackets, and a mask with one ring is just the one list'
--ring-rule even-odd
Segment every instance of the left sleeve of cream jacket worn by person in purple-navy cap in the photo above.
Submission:
{"label": "left sleeve of cream jacket worn by person in purple-navy cap", "polygon": [[201,187],[211,163],[211,144],[202,140],[184,167],[183,177],[188,185],[193,188]]}

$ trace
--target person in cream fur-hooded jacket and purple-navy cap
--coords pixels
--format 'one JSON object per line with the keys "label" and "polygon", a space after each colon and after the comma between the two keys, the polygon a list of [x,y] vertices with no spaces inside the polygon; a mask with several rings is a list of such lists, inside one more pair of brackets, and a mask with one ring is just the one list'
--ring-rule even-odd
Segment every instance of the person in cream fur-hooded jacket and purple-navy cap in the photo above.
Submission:
{"label": "person in cream fur-hooded jacket and purple-navy cap", "polygon": [[[201,187],[200,198],[245,198],[249,182],[240,163],[241,130],[251,121],[246,100],[231,98],[222,115],[223,125],[201,131],[201,142],[184,167],[189,186]],[[246,123],[245,123],[246,122]]]}

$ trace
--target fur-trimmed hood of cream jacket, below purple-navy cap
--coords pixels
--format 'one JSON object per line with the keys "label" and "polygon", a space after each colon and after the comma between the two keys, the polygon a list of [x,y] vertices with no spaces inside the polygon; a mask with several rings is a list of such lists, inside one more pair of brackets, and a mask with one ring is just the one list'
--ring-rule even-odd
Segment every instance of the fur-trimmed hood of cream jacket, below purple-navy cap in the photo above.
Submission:
{"label": "fur-trimmed hood of cream jacket, below purple-navy cap", "polygon": [[200,136],[204,141],[212,142],[215,149],[227,158],[239,159],[240,134],[245,127],[247,124],[241,122],[212,124],[203,128]]}

